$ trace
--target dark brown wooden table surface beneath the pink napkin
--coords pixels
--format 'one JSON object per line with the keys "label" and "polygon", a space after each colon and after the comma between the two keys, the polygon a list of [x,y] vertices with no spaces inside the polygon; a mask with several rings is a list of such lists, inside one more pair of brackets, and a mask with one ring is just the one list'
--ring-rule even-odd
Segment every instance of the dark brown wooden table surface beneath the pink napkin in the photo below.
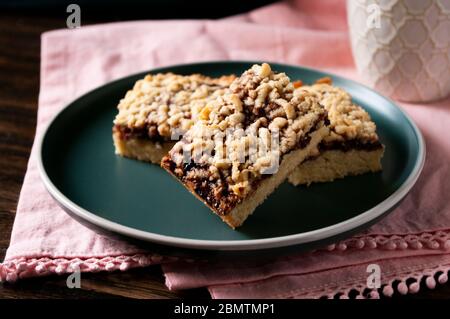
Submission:
{"label": "dark brown wooden table surface beneath the pink napkin", "polygon": [[[89,23],[112,21],[91,18]],[[9,244],[17,200],[34,140],[39,93],[40,34],[64,28],[65,13],[35,14],[0,9],[0,260]],[[126,17],[129,19],[130,17]],[[115,18],[121,20],[121,18]],[[86,23],[82,21],[82,23]],[[83,274],[81,289],[51,276],[0,284],[0,298],[209,298],[206,289],[169,291],[160,267]],[[413,298],[449,298],[450,285]]]}

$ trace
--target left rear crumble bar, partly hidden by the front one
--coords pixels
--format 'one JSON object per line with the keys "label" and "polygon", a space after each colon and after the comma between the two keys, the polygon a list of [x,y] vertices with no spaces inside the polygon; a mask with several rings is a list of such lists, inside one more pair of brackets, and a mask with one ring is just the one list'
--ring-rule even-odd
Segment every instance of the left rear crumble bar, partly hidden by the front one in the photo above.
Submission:
{"label": "left rear crumble bar, partly hidden by the front one", "polygon": [[223,94],[234,79],[160,73],[137,81],[118,105],[116,154],[159,164],[175,144],[172,133],[187,131],[205,103]]}

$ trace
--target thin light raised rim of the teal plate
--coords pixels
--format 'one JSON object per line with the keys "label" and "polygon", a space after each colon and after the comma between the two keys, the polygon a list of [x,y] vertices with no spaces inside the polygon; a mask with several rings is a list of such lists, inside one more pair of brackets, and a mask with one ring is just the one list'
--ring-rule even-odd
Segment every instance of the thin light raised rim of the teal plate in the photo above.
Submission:
{"label": "thin light raised rim of the teal plate", "polygon": [[77,100],[83,99],[91,94],[94,94],[96,91],[103,89],[107,85],[111,85],[113,83],[122,81],[126,78],[138,76],[140,74],[145,73],[155,73],[160,72],[160,70],[167,70],[170,68],[179,68],[179,67],[187,67],[187,66],[201,66],[207,64],[255,64],[261,63],[260,61],[247,61],[247,60],[234,60],[234,61],[226,61],[226,60],[214,60],[214,61],[204,61],[204,62],[195,62],[195,63],[182,63],[182,64],[174,64],[168,65],[164,67],[153,68],[144,72],[137,72],[127,76],[120,77],[116,80],[104,83],[88,92],[74,98],[72,101],[67,103],[61,110],[59,110],[54,117],[49,121],[47,126],[43,129],[42,133],[36,137],[37,142],[37,166],[39,175],[41,180],[44,183],[45,188],[50,193],[50,195],[66,210],[69,210],[71,213],[75,214],[77,217],[95,225],[100,228],[106,229],[108,231],[118,233],[121,235],[125,235],[127,237],[136,238],[139,240],[143,240],[146,242],[153,242],[156,244],[173,246],[179,248],[189,248],[196,250],[219,250],[219,251],[239,251],[239,250],[261,250],[261,249],[269,249],[269,248],[281,248],[293,245],[301,245],[316,242],[319,240],[325,240],[327,238],[338,236],[339,234],[346,233],[357,229],[365,224],[370,223],[373,220],[381,217],[383,214],[392,210],[396,204],[398,204],[411,190],[411,188],[416,183],[417,179],[422,172],[425,158],[426,158],[426,145],[423,135],[418,128],[418,126],[414,123],[411,117],[401,108],[399,107],[392,99],[381,95],[375,90],[369,88],[368,86],[353,81],[351,79],[336,75],[334,73],[322,71],[315,68],[305,67],[305,66],[297,66],[292,64],[278,63],[278,62],[267,62],[273,65],[279,65],[283,67],[290,68],[299,68],[309,72],[315,72],[320,74],[325,74],[333,77],[334,79],[339,79],[340,81],[350,82],[352,85],[362,87],[370,92],[376,94],[380,98],[386,100],[391,105],[396,107],[400,113],[406,118],[408,124],[412,128],[417,141],[418,141],[418,157],[416,162],[414,163],[414,167],[406,178],[406,180],[400,185],[400,187],[391,195],[389,195],[386,199],[379,202],[377,205],[372,208],[362,212],[361,214],[354,216],[352,218],[346,219],[339,223],[329,225],[326,227],[314,229],[307,232],[285,235],[285,236],[277,236],[277,237],[269,237],[269,238],[260,238],[260,239],[244,239],[244,240],[206,240],[206,239],[192,239],[192,238],[183,238],[169,235],[162,235],[157,233],[152,233],[144,230],[135,229],[129,226],[124,226],[120,223],[108,220],[106,218],[100,217],[90,211],[80,207],[79,205],[72,202],[68,197],[66,197],[50,180],[50,177],[47,175],[47,172],[43,163],[43,154],[42,148],[44,144],[44,140],[52,126],[52,124],[59,118],[59,116],[68,109],[74,102]]}

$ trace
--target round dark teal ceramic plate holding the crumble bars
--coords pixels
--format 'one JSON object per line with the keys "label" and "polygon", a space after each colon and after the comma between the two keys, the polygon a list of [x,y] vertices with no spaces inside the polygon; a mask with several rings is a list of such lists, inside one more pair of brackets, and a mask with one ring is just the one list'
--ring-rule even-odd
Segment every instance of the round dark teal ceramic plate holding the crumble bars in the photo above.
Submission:
{"label": "round dark teal ceramic plate holding the crumble bars", "polygon": [[[240,74],[253,62],[211,62],[149,71],[210,76]],[[331,76],[372,116],[386,146],[383,171],[333,183],[282,184],[244,226],[230,229],[157,165],[114,154],[116,105],[136,80],[129,76],[76,99],[54,118],[40,142],[42,179],[76,219],[154,244],[200,250],[302,246],[349,234],[386,215],[416,182],[425,159],[421,133],[392,101],[350,80],[316,70],[272,64],[291,79]]]}

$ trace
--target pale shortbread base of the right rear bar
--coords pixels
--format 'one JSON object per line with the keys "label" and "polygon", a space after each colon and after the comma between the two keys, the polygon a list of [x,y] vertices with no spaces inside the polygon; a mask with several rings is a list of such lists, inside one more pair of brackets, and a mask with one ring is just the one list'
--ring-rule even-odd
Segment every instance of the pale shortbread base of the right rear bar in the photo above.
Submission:
{"label": "pale shortbread base of the right rear bar", "polygon": [[294,185],[332,182],[345,176],[381,170],[384,148],[376,150],[324,150],[318,157],[306,160],[290,175]]}

